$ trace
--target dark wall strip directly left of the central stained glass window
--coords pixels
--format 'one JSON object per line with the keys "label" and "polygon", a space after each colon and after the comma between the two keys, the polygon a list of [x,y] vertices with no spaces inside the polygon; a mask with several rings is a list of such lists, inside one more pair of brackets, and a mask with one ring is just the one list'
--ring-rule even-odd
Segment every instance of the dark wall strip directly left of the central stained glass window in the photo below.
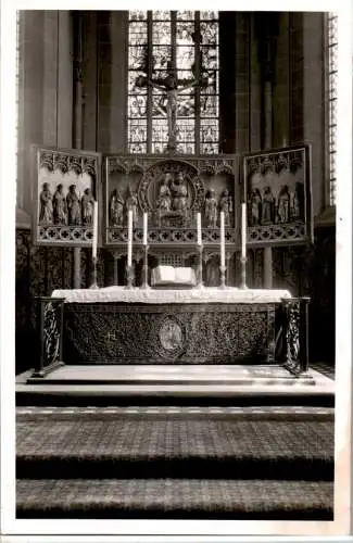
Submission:
{"label": "dark wall strip directly left of the central stained glass window", "polygon": [[84,147],[125,152],[127,12],[83,14]]}

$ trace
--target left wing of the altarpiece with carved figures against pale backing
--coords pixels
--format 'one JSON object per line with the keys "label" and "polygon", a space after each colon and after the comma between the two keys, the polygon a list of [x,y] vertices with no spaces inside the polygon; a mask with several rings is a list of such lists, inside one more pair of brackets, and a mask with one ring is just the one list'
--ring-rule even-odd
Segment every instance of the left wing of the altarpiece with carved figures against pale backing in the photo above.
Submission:
{"label": "left wing of the altarpiece with carved figures against pale backing", "polygon": [[34,148],[34,241],[41,245],[89,247],[93,203],[99,199],[98,153]]}

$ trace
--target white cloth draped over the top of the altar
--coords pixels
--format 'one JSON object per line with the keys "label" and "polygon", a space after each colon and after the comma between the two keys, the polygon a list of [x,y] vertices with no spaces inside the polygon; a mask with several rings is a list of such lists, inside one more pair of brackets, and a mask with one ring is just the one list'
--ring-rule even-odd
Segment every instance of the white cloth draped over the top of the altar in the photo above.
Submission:
{"label": "white cloth draped over the top of the altar", "polygon": [[52,298],[64,298],[65,302],[125,302],[125,303],[273,303],[291,298],[288,290],[269,289],[225,289],[205,287],[188,290],[154,290],[126,287],[105,287],[102,289],[54,290]]}

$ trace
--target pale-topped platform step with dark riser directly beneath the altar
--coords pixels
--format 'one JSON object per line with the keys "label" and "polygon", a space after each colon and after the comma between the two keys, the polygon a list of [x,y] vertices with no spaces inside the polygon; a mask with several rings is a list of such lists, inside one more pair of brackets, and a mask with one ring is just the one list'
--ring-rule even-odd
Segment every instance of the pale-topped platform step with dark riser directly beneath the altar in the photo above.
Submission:
{"label": "pale-topped platform step with dark riser directly beneath the altar", "polygon": [[16,378],[17,405],[333,405],[335,381],[280,366],[81,365]]}

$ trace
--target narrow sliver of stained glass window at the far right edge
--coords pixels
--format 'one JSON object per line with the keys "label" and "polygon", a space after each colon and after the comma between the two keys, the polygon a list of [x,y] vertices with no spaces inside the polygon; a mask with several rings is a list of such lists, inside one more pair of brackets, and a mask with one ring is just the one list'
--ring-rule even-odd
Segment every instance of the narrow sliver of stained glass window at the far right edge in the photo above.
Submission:
{"label": "narrow sliver of stained glass window at the far right edge", "polygon": [[336,203],[336,154],[337,154],[337,15],[329,14],[328,30],[328,152],[330,205]]}

